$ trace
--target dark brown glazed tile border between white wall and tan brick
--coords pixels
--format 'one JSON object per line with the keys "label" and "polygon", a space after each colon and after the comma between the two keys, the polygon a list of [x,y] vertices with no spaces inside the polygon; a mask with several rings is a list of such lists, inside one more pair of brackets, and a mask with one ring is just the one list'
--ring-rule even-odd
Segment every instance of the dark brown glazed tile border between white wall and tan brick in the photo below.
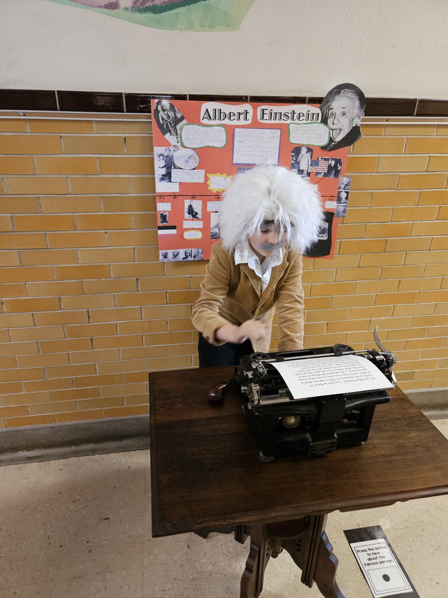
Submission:
{"label": "dark brown glazed tile border between white wall and tan brick", "polygon": [[[222,102],[310,103],[320,104],[317,96],[251,96],[224,94],[164,94],[106,91],[54,91],[32,89],[0,90],[0,110],[37,110],[60,112],[151,112],[151,99]],[[367,97],[366,116],[448,116],[448,100],[406,97]]]}

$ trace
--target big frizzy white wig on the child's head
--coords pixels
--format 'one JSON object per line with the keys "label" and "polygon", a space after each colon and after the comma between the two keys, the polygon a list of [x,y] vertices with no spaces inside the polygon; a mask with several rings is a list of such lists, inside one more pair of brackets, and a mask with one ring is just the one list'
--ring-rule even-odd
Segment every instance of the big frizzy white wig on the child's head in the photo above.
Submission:
{"label": "big frizzy white wig on the child's head", "polygon": [[320,195],[281,166],[256,166],[235,176],[219,211],[223,248],[233,251],[238,240],[256,233],[266,220],[278,222],[287,231],[287,245],[303,254],[317,241],[323,221]]}

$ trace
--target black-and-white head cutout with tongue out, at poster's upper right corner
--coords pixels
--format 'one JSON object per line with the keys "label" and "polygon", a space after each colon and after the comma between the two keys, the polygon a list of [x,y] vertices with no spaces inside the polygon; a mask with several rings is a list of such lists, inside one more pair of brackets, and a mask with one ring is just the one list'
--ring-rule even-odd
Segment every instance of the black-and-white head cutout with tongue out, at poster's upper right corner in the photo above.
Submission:
{"label": "black-and-white head cutout with tongue out, at poster's upper right corner", "polygon": [[322,121],[330,129],[324,151],[345,148],[361,138],[361,118],[366,108],[366,96],[352,83],[341,83],[327,93],[320,109]]}

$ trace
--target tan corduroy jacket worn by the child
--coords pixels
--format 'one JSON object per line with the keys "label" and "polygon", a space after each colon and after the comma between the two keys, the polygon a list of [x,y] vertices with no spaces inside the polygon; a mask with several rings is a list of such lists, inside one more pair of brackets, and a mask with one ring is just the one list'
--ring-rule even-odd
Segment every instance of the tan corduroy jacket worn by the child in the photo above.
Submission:
{"label": "tan corduroy jacket worn by the child", "polygon": [[235,266],[234,253],[214,243],[200,296],[192,310],[194,327],[209,343],[224,344],[215,333],[229,322],[240,326],[246,320],[259,319],[268,325],[269,338],[253,345],[256,351],[267,352],[276,303],[278,350],[302,349],[302,255],[284,248],[283,263],[272,268],[268,286],[261,292],[260,277],[247,264]]}

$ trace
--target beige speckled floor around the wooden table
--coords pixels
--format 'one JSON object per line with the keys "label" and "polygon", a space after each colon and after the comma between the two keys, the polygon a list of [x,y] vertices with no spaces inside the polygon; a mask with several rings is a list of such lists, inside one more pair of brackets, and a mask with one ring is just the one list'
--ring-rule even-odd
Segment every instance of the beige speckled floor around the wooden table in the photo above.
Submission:
{"label": "beige speckled floor around the wooden table", "polygon": [[[448,419],[433,420],[448,437]],[[233,535],[151,538],[149,451],[0,468],[0,598],[240,595],[248,553]],[[421,598],[448,596],[448,496],[329,515],[346,598],[370,590],[342,533],[382,526]],[[263,598],[317,598],[289,555],[271,559]]]}

